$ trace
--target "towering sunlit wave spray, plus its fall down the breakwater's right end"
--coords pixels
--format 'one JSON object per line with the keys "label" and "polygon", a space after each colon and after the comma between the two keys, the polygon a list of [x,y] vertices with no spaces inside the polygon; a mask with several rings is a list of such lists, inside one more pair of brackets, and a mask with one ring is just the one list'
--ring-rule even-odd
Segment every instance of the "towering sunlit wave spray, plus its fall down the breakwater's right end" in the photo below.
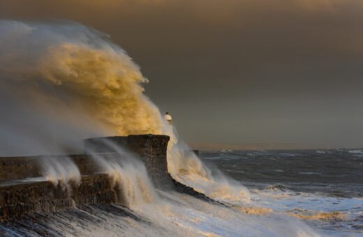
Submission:
{"label": "towering sunlit wave spray, plus its fall down the breakwater's right end", "polygon": [[[18,114],[2,118],[10,136],[2,138],[1,150],[24,139],[31,146],[23,153],[59,153],[94,135],[164,134],[170,136],[168,169],[177,181],[210,197],[248,199],[246,189],[215,178],[177,144],[175,130],[143,94],[148,81],[140,68],[108,38],[73,22],[0,22],[0,95],[10,101],[1,109]],[[29,126],[18,130],[24,123]]]}

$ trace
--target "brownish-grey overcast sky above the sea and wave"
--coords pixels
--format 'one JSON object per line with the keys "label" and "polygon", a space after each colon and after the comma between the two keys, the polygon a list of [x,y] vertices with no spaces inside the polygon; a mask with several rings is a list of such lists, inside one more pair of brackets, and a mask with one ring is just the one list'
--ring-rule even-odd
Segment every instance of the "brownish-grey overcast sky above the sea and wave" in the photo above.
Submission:
{"label": "brownish-grey overcast sky above the sea and wave", "polygon": [[186,142],[363,146],[362,0],[0,0],[0,18],[110,34]]}

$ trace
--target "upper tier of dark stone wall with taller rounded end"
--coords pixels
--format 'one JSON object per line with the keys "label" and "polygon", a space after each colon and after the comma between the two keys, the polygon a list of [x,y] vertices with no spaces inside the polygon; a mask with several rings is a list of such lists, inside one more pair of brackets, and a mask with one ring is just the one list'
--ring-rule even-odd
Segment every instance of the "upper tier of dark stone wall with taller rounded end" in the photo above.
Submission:
{"label": "upper tier of dark stone wall with taller rounded end", "polygon": [[[98,156],[133,156],[141,160],[147,168],[151,180],[157,188],[168,185],[168,162],[166,150],[169,137],[165,135],[129,135],[127,137],[98,137],[84,140],[84,153],[79,155],[49,155],[0,158],[0,181],[19,178],[33,178],[43,176],[42,159],[71,158],[80,170],[80,174],[93,174],[101,171],[89,153]],[[121,153],[121,147],[126,153]],[[87,154],[88,153],[88,154]],[[102,153],[102,154],[101,154]]]}

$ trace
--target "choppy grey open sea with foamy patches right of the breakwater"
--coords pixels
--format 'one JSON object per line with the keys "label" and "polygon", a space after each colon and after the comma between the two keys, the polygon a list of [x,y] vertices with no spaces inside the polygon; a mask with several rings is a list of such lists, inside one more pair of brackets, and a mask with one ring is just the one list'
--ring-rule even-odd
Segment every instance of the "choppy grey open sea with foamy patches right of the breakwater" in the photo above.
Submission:
{"label": "choppy grey open sea with foamy patches right of the breakwater", "polygon": [[255,205],[323,234],[363,236],[363,150],[218,151],[201,158],[248,187]]}

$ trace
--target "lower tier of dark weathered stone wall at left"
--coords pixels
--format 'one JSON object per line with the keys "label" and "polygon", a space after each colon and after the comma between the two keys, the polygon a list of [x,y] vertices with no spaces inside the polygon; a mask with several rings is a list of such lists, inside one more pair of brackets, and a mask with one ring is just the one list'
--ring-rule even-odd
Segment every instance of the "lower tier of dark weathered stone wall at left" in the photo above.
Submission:
{"label": "lower tier of dark weathered stone wall at left", "polygon": [[110,204],[114,190],[107,174],[82,176],[80,185],[49,181],[0,186],[0,221],[27,213],[50,212],[79,204]]}

